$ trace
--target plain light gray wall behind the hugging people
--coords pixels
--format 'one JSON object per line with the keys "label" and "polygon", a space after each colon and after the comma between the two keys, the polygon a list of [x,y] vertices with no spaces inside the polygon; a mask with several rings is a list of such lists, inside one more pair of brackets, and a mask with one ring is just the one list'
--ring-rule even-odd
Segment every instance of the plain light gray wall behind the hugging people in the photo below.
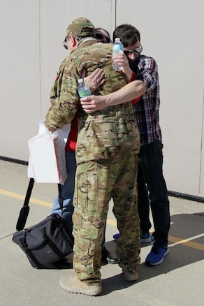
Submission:
{"label": "plain light gray wall behind the hugging people", "polygon": [[131,23],[159,65],[168,190],[204,197],[203,0],[1,0],[0,156],[28,161],[66,50],[66,27],[88,17],[112,33]]}

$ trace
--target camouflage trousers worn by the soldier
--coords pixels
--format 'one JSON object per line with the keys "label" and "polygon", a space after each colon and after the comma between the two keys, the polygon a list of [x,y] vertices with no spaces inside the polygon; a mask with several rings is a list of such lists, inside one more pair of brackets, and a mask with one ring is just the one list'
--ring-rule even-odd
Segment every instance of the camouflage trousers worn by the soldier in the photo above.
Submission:
{"label": "camouflage trousers worn by the soldier", "polygon": [[91,284],[101,282],[101,242],[110,198],[120,233],[116,247],[119,265],[126,265],[130,271],[139,265],[137,172],[135,153],[78,164],[73,213],[73,268],[78,279]]}

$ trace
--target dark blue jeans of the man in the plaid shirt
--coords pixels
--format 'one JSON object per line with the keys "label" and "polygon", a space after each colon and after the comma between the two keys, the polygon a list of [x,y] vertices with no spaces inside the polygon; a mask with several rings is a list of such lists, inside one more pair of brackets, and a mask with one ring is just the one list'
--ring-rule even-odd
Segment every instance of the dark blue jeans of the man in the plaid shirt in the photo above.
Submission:
{"label": "dark blue jeans of the man in the plaid shirt", "polygon": [[140,226],[143,230],[150,229],[151,207],[154,223],[154,247],[167,247],[170,228],[168,191],[163,177],[162,148],[161,141],[154,140],[149,145],[140,147],[139,153],[138,212]]}

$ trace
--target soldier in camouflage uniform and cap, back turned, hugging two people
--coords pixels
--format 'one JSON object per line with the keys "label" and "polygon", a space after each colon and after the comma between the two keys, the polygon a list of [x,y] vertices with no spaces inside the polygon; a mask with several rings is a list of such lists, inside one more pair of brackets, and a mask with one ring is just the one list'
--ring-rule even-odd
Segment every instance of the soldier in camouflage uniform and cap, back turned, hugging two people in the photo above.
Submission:
{"label": "soldier in camouflage uniform and cap, back turned, hugging two people", "polygon": [[79,133],[73,231],[73,266],[76,275],[61,277],[61,288],[96,296],[101,286],[101,242],[112,197],[120,238],[119,265],[128,281],[138,279],[140,227],[136,178],[139,133],[131,101],[87,115],[79,105],[78,79],[103,68],[105,82],[94,94],[105,95],[126,85],[122,72],[112,69],[112,45],[97,43],[94,26],[86,18],[74,20],[66,30],[71,54],[59,68],[51,92],[51,107],[45,118],[50,131],[69,124],[77,113]]}

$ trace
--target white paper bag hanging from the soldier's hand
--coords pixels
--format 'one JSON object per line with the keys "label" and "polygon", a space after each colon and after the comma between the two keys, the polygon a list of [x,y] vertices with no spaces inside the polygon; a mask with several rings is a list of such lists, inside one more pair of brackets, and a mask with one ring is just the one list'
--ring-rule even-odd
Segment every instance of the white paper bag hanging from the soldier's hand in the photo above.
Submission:
{"label": "white paper bag hanging from the soldier's hand", "polygon": [[[67,134],[68,135],[68,134]],[[28,140],[28,177],[35,182],[60,183],[66,180],[65,140],[59,133],[51,133],[40,123],[38,135]]]}

